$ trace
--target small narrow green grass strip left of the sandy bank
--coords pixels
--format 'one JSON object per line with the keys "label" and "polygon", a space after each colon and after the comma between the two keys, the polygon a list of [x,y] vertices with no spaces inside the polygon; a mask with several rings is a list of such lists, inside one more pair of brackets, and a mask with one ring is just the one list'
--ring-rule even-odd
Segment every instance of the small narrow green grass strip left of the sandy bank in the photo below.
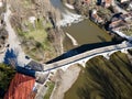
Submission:
{"label": "small narrow green grass strip left of the sandy bank", "polygon": [[53,81],[50,81],[48,84],[46,84],[48,89],[46,91],[46,95],[44,96],[44,99],[50,99],[51,95],[52,95],[52,91],[55,87],[55,84]]}

